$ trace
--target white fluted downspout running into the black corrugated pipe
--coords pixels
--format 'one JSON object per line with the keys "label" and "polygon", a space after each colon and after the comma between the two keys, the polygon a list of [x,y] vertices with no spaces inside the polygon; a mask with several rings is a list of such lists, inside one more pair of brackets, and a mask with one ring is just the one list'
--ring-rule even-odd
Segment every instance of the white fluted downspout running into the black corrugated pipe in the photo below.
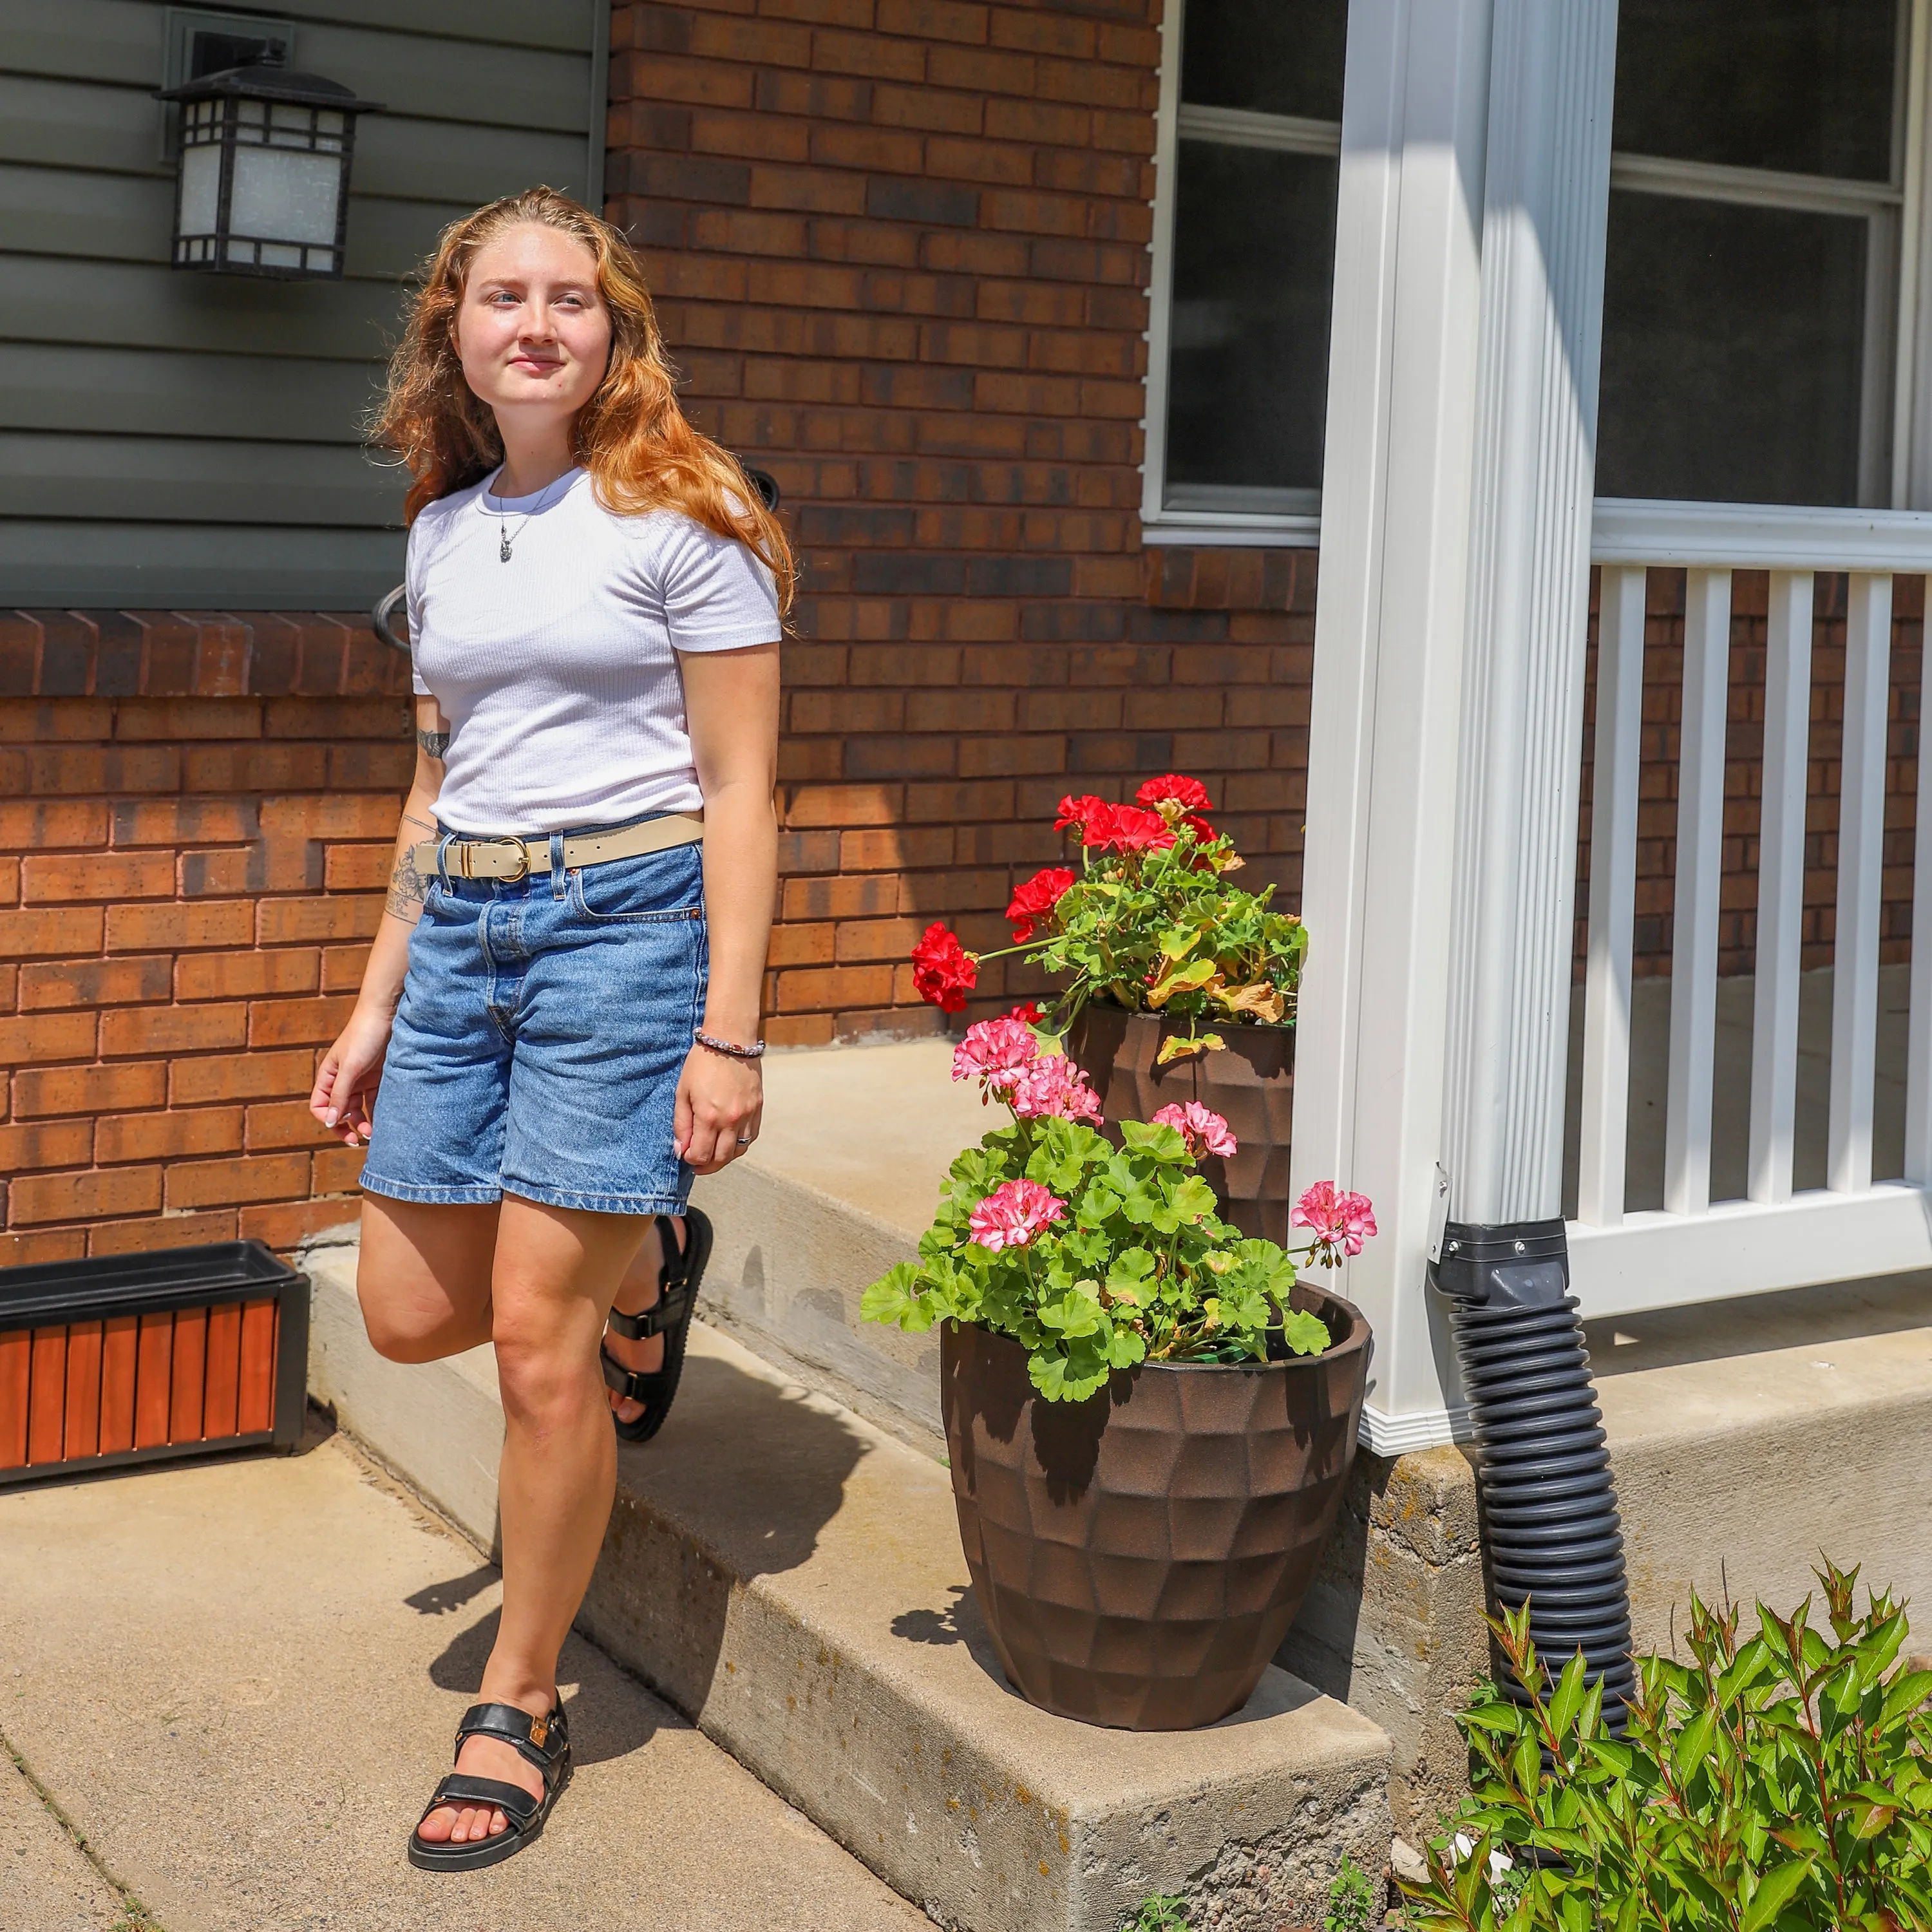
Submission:
{"label": "white fluted downspout running into the black corrugated pipe", "polygon": [[1615,0],[1495,0],[1443,1167],[1461,1223],[1555,1219]]}

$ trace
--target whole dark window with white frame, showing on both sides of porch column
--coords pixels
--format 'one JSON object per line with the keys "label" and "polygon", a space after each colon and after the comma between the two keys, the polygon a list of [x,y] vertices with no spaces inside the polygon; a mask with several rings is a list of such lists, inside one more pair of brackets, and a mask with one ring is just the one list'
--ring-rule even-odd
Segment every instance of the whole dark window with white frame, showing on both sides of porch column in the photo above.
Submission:
{"label": "whole dark window with white frame, showing on both sides of porch column", "polygon": [[[1602,497],[1932,504],[1928,8],[1621,0]],[[1163,31],[1142,524],[1312,543],[1347,0],[1175,0]]]}

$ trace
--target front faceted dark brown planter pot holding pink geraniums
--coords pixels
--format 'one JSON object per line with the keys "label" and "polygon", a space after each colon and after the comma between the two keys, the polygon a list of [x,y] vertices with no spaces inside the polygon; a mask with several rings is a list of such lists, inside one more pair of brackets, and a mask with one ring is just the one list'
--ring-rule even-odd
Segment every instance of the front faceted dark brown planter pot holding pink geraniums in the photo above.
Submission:
{"label": "front faceted dark brown planter pot holding pink geraniums", "polygon": [[943,1323],[952,1499],[980,1613],[1041,1710],[1186,1731],[1240,1710],[1289,1634],[1335,1524],[1370,1333],[1294,1289],[1335,1345],[1221,1368],[1142,1364],[1045,1403],[1026,1350]]}

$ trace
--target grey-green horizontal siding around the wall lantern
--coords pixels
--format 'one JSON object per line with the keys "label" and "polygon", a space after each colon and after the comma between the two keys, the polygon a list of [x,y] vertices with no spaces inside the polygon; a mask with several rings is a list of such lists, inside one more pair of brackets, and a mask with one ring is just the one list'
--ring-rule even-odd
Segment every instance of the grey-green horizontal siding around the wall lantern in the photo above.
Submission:
{"label": "grey-green horizontal siding around the wall lantern", "polygon": [[402,477],[361,429],[400,282],[477,203],[601,174],[603,4],[263,8],[298,68],[392,110],[357,128],[346,278],[288,284],[166,265],[160,0],[0,0],[0,605],[354,609],[394,583]]}

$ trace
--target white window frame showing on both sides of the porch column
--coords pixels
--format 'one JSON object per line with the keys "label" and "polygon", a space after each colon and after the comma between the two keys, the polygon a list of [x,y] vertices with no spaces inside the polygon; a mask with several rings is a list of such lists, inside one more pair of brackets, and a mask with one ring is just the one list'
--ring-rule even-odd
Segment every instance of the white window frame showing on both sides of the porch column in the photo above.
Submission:
{"label": "white window frame showing on both sides of the porch column", "polygon": [[[1350,6],[1364,0],[1350,0]],[[1370,0],[1372,4],[1372,0]],[[1169,0],[1161,19],[1161,93],[1153,149],[1153,236],[1148,286],[1148,381],[1142,417],[1142,541],[1148,545],[1240,545],[1248,549],[1312,549],[1321,539],[1320,508],[1306,514],[1242,510],[1235,504],[1173,506],[1163,502],[1167,469],[1167,388],[1175,276],[1177,164],[1182,135],[1206,135],[1229,145],[1339,155],[1341,124],[1252,114],[1238,108],[1182,106],[1180,48],[1186,0]],[[1804,174],[1772,174],[1706,162],[1663,160],[1617,153],[1611,187],[1642,187],[1706,201],[1760,207],[1866,213],[1874,228],[1895,222],[1897,249],[1870,249],[1866,301],[1866,396],[1861,423],[1861,497],[1870,508],[1675,502],[1648,497],[1596,498],[1600,554],[1631,551],[1665,554],[1702,535],[1714,520],[1741,526],[1764,518],[1766,537],[1804,549],[1816,520],[1833,531],[1847,520],[1886,522],[1888,514],[1932,510],[1932,143],[1926,137],[1928,68],[1932,68],[1932,0],[1901,10],[1899,93],[1893,114],[1897,162],[1891,182],[1839,182]],[[1876,298],[1876,299],[1870,299]],[[1889,381],[1884,363],[1889,354]],[[1889,412],[1889,423],[1886,421]],[[1889,444],[1889,464],[1886,446]],[[1889,471],[1889,473],[1888,473]],[[1238,497],[1236,491],[1229,493]],[[1766,516],[1766,512],[1776,512]],[[1903,522],[1903,520],[1901,520]],[[1911,518],[1915,527],[1918,518]],[[1918,539],[1922,541],[1922,537]],[[1607,549],[1605,549],[1607,543]]]}

